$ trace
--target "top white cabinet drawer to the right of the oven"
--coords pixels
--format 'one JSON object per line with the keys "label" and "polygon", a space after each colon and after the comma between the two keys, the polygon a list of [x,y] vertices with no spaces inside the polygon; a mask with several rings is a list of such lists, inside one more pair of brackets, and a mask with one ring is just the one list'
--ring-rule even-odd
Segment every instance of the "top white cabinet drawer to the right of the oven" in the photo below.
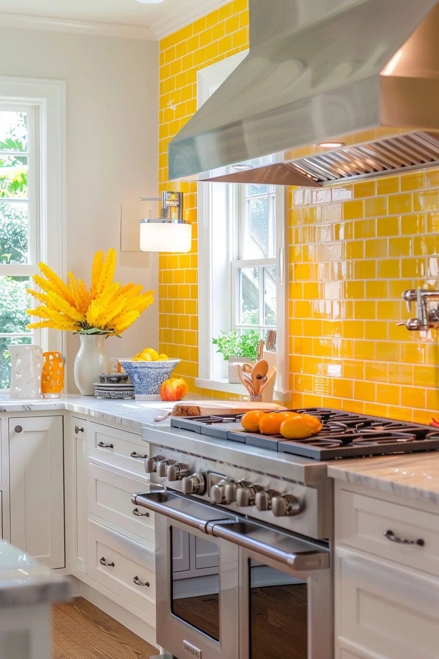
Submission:
{"label": "top white cabinet drawer to the right of the oven", "polygon": [[[336,544],[439,575],[439,515],[342,487],[336,490],[335,509]],[[389,532],[415,544],[395,542],[386,537]]]}

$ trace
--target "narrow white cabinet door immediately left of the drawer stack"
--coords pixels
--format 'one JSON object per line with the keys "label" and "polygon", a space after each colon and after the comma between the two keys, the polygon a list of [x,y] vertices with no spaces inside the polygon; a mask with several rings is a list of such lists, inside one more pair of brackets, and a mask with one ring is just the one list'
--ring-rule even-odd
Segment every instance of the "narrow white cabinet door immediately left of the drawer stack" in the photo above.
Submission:
{"label": "narrow white cabinet door immediately left of the drawer stack", "polygon": [[81,418],[70,420],[70,441],[74,445],[74,567],[87,573],[87,426]]}

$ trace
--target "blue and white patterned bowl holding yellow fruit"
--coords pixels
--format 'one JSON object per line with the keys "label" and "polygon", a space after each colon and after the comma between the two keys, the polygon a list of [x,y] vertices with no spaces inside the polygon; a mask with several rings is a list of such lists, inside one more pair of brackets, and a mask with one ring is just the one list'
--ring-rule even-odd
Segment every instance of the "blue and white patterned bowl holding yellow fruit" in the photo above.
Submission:
{"label": "blue and white patterned bowl holding yellow fruit", "polygon": [[160,400],[160,385],[168,380],[180,359],[157,362],[121,361],[120,366],[130,376],[136,400]]}

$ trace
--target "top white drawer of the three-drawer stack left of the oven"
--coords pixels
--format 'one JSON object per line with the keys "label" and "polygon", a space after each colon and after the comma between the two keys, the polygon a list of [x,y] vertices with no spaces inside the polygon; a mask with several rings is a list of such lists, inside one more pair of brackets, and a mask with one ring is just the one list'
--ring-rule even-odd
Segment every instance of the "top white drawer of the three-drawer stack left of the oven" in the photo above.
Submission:
{"label": "top white drawer of the three-drawer stack left of the oven", "polygon": [[140,435],[127,430],[109,428],[99,423],[88,424],[88,455],[146,477],[145,455],[148,444]]}

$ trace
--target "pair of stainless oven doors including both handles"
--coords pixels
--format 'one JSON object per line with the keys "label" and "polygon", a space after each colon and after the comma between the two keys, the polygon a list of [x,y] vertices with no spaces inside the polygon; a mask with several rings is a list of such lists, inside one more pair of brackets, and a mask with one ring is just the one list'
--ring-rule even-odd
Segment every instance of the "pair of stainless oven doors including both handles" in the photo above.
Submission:
{"label": "pair of stainless oven doors including both handles", "polygon": [[326,545],[165,490],[132,500],[160,513],[160,645],[178,659],[332,659]]}

